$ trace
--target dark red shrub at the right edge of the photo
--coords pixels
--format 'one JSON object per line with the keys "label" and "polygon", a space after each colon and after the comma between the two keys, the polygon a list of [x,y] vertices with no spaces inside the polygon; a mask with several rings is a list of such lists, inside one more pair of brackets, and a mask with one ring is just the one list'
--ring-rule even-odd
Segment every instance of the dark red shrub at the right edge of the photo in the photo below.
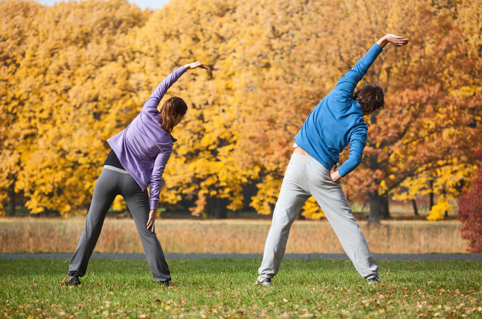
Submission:
{"label": "dark red shrub at the right edge of the photo", "polygon": [[[477,156],[482,159],[482,148],[477,150]],[[458,219],[463,226],[460,228],[462,238],[469,241],[470,252],[482,252],[482,166],[472,187],[464,187],[458,197]]]}

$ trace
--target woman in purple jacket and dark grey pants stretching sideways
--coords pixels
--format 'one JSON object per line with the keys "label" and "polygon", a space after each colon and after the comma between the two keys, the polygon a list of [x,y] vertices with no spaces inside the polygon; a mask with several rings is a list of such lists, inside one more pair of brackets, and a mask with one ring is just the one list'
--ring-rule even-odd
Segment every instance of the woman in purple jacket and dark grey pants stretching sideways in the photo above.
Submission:
{"label": "woman in purple jacket and dark grey pants stretching sideways", "polygon": [[[169,74],[147,99],[141,113],[127,127],[107,140],[112,150],[96,181],[92,203],[80,236],[77,249],[69,264],[71,277],[65,284],[79,285],[94,251],[105,215],[117,195],[124,197],[136,223],[145,256],[156,282],[172,286],[170,271],[154,227],[162,174],[173,143],[170,134],[188,109],[182,98],[169,98],[157,110],[159,102],[169,87],[189,69],[208,69],[200,62],[180,67]],[[150,184],[150,196],[147,185]]]}

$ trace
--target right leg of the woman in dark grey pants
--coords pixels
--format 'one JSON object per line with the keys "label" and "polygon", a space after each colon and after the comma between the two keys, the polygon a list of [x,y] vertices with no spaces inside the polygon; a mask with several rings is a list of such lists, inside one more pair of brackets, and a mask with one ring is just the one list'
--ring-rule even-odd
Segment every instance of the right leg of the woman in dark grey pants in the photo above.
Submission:
{"label": "right leg of the woman in dark grey pants", "polygon": [[159,243],[156,233],[147,229],[146,225],[149,217],[149,196],[147,190],[143,191],[131,175],[124,174],[122,177],[121,195],[124,197],[127,207],[136,222],[137,232],[141,238],[152,277],[154,277],[156,282],[169,281],[171,280],[170,270],[166,263],[166,258],[164,258],[161,243]]}

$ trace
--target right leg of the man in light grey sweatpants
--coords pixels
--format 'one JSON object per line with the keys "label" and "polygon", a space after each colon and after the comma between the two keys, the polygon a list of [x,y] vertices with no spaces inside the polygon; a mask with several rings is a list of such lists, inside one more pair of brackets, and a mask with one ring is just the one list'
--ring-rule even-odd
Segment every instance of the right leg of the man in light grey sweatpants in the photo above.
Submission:
{"label": "right leg of the man in light grey sweatpants", "polygon": [[360,226],[353,217],[341,184],[333,182],[330,172],[321,164],[319,169],[324,171],[312,174],[310,193],[323,210],[356,270],[365,279],[378,277],[377,261],[370,252]]}

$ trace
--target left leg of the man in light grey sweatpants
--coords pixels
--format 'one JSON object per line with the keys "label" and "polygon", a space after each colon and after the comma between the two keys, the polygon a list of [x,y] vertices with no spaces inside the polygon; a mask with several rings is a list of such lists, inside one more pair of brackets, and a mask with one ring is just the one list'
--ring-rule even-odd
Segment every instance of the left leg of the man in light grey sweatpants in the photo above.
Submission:
{"label": "left leg of the man in light grey sweatpants", "polygon": [[273,212],[273,221],[266,238],[263,262],[258,270],[262,277],[273,278],[285,255],[289,230],[293,221],[303,207],[305,201],[311,196],[303,189],[300,182],[303,174],[303,165],[300,165],[299,154],[293,154],[283,178],[280,195]]}

